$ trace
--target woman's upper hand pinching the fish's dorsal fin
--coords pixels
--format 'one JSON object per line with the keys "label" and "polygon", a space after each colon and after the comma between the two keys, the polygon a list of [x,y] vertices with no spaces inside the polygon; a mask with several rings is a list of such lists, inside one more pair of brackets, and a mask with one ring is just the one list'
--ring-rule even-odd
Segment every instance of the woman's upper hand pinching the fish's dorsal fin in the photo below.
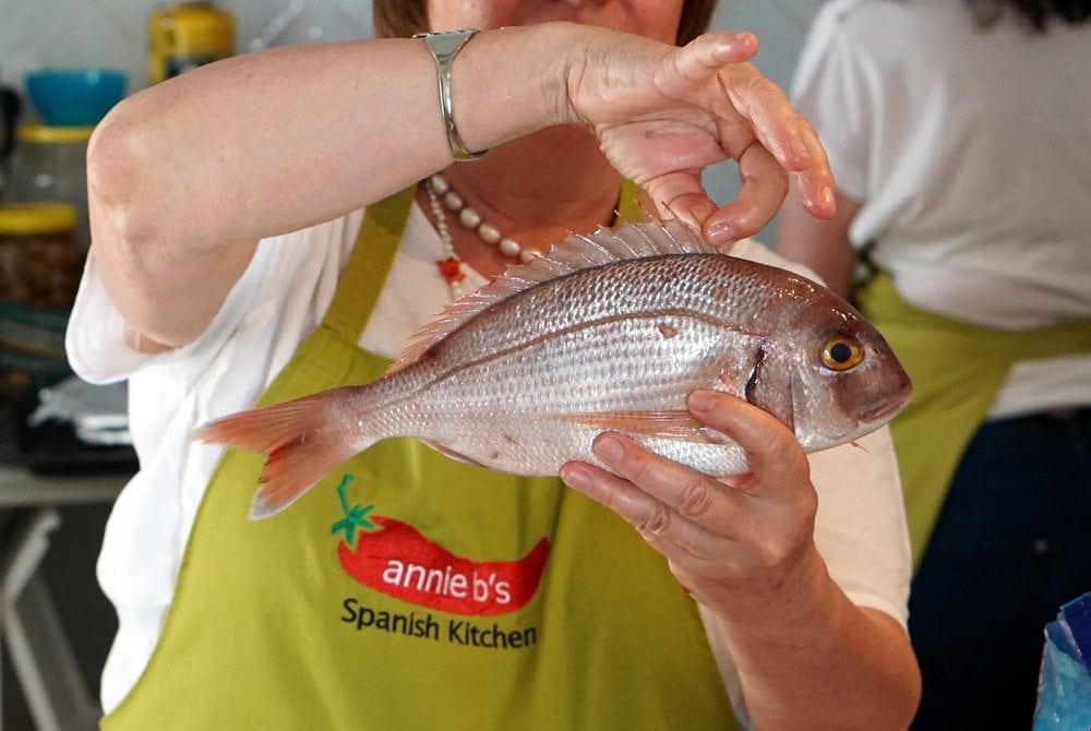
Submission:
{"label": "woman's upper hand pinching the fish's dorsal fin", "polygon": [[[707,34],[684,48],[624,34],[603,43],[601,35],[570,63],[571,113],[663,213],[714,242],[750,236],[777,213],[792,173],[805,208],[834,215],[825,151],[783,92],[747,63],[757,52],[752,34]],[[743,187],[718,208],[700,175],[726,159],[739,164]]]}

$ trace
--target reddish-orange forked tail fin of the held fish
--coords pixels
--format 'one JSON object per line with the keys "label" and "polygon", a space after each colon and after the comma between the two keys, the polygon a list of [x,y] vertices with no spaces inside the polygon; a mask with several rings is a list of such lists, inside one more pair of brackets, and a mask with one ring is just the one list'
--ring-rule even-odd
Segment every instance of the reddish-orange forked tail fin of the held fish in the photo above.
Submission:
{"label": "reddish-orange forked tail fin of the held fish", "polygon": [[[339,391],[339,390],[338,390]],[[326,472],[369,445],[340,427],[332,409],[335,392],[324,392],[212,421],[197,439],[266,455],[250,519],[276,515],[299,500]]]}

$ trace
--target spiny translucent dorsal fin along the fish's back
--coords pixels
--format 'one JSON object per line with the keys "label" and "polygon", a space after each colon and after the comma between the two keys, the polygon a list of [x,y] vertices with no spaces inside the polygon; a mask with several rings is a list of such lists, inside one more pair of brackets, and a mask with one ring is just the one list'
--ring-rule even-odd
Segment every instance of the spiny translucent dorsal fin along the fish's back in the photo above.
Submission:
{"label": "spiny translucent dorsal fin along the fish's back", "polygon": [[415,362],[429,348],[478,313],[543,281],[628,259],[718,253],[721,253],[719,249],[696,237],[674,218],[661,220],[657,217],[646,224],[626,220],[615,227],[600,226],[594,233],[570,233],[542,256],[527,264],[508,267],[476,292],[444,307],[434,320],[412,337],[409,346],[386,373],[397,373]]}

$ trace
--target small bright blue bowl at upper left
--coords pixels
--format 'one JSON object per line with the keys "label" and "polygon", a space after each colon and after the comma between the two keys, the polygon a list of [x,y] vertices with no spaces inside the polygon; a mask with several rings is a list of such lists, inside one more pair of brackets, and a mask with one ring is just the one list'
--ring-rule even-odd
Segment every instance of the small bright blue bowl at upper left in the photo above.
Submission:
{"label": "small bright blue bowl at upper left", "polygon": [[26,74],[26,92],[51,127],[93,127],[125,95],[128,79],[109,69],[47,69]]}

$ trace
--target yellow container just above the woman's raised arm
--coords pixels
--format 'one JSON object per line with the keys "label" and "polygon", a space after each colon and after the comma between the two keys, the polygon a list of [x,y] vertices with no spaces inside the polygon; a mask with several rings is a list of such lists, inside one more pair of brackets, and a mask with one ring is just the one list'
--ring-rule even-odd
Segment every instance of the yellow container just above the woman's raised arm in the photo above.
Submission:
{"label": "yellow container just above the woman's raised arm", "polygon": [[235,53],[235,17],[211,2],[178,2],[148,21],[148,82],[160,81]]}

